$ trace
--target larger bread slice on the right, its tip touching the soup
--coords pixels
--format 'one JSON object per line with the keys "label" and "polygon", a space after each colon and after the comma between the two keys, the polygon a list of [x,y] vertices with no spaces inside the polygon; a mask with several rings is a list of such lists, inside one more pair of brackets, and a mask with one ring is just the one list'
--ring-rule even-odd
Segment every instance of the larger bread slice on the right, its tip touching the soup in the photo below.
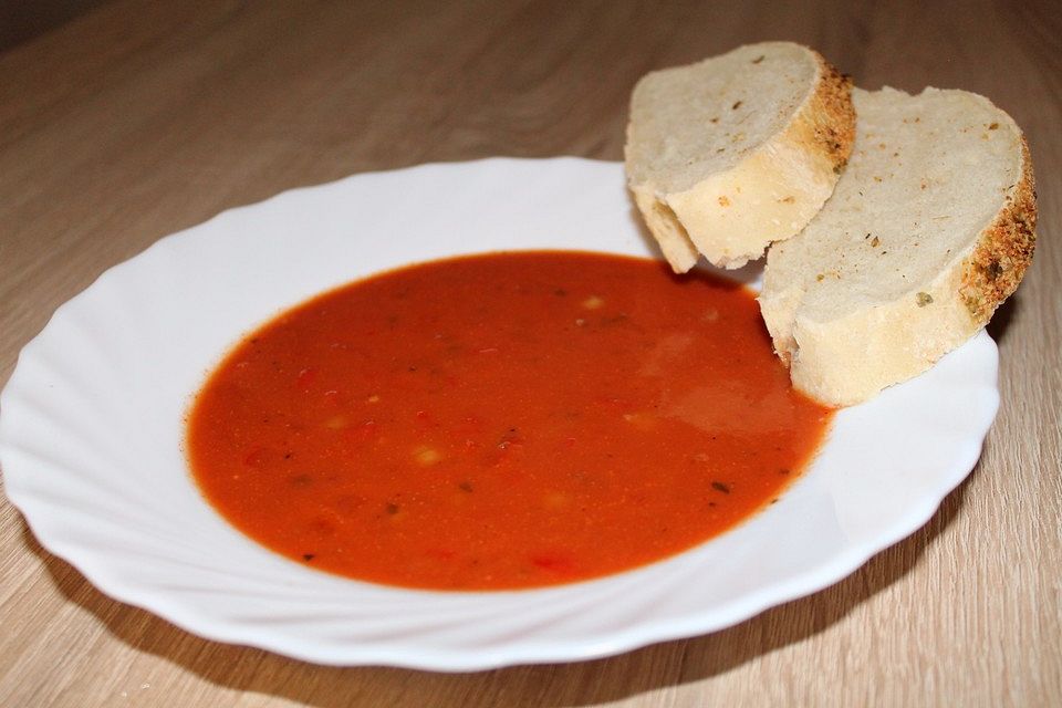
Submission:
{"label": "larger bread slice on the right, its tip touching the soup", "polygon": [[1032,164],[987,98],[854,92],[847,168],[768,253],[760,308],[793,384],[835,406],[912,378],[980,330],[1035,246]]}

